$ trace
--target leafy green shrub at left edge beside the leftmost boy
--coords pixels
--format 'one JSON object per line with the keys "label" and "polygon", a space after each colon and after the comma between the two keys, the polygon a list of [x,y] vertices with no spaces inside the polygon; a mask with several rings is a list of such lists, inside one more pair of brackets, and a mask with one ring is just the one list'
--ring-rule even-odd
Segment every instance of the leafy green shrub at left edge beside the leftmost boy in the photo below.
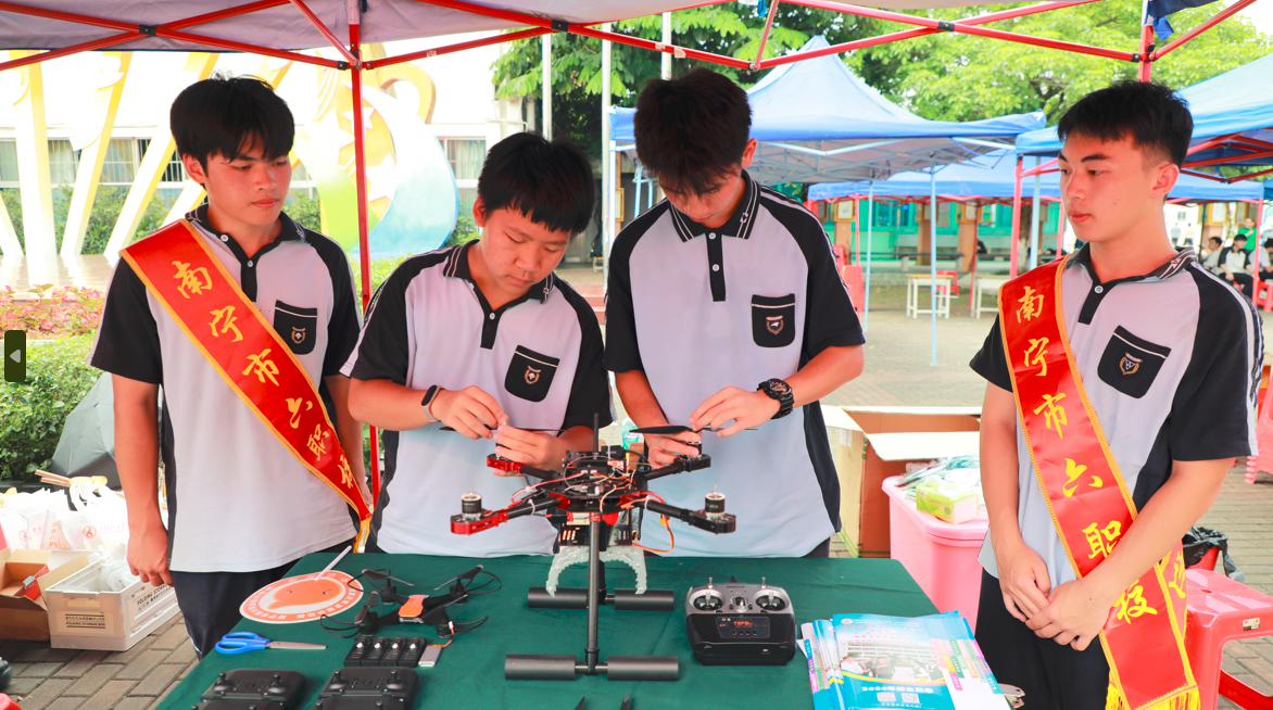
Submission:
{"label": "leafy green shrub at left edge beside the leftmost boy", "polygon": [[66,415],[88,394],[98,370],[85,359],[92,336],[27,349],[27,382],[0,386],[0,478],[36,481],[48,468]]}

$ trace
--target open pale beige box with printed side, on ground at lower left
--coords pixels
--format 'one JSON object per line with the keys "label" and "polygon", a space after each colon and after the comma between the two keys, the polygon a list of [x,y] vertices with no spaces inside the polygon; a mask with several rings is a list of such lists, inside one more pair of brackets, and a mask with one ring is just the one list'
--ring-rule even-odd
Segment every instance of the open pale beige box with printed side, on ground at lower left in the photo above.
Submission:
{"label": "open pale beige box with printed side, on ground at lower left", "polygon": [[140,579],[102,592],[102,562],[93,562],[46,592],[55,649],[129,650],[177,613],[172,587]]}

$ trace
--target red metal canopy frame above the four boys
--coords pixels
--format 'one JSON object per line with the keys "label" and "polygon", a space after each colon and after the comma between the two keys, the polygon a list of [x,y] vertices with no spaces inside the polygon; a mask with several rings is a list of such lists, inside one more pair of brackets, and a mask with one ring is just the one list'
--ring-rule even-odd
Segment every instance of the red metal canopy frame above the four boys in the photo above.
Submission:
{"label": "red metal canopy frame above the four boys", "polygon": [[[144,37],[163,37],[169,39],[178,39],[182,42],[188,42],[192,45],[201,45],[205,47],[213,47],[218,50],[236,51],[236,52],[250,52],[269,57],[284,59],[289,61],[299,61],[303,64],[313,64],[318,66],[326,66],[330,69],[337,69],[342,71],[350,71],[350,85],[353,92],[354,106],[360,106],[363,101],[363,79],[362,71],[353,71],[356,69],[374,69],[376,66],[388,66],[392,64],[400,64],[404,61],[412,61],[416,59],[428,59],[433,56],[439,56],[444,53],[458,52],[463,50],[470,50],[475,47],[482,47],[488,45],[498,45],[502,42],[509,42],[514,39],[526,39],[530,37],[537,37],[541,34],[547,34],[552,32],[563,32],[570,34],[578,34],[580,37],[592,37],[597,39],[608,39],[619,45],[626,45],[630,47],[638,47],[644,50],[651,50],[656,52],[665,52],[673,55],[679,59],[693,59],[699,61],[705,61],[710,64],[718,64],[723,66],[732,66],[736,69],[768,69],[778,66],[782,64],[789,64],[794,61],[801,61],[806,59],[813,59],[817,56],[824,56],[829,53],[841,53],[853,50],[872,47],[877,45],[885,45],[889,42],[897,42],[901,39],[909,39],[914,37],[923,37],[927,34],[936,34],[939,32],[955,32],[964,34],[973,34],[979,37],[989,37],[994,39],[1002,39],[1007,42],[1017,42],[1022,45],[1031,45],[1036,47],[1046,47],[1060,51],[1078,52],[1086,55],[1102,56],[1108,59],[1133,61],[1139,64],[1139,78],[1142,80],[1148,80],[1151,74],[1151,64],[1153,60],[1166,55],[1167,52],[1175,50],[1176,47],[1184,45],[1189,39],[1193,39],[1202,32],[1214,27],[1220,22],[1225,20],[1230,15],[1240,11],[1242,8],[1250,5],[1255,0],[1239,0],[1234,5],[1226,8],[1225,10],[1217,13],[1213,18],[1206,23],[1195,27],[1194,29],[1186,32],[1184,36],[1176,41],[1164,46],[1161,50],[1155,50],[1151,43],[1152,31],[1150,27],[1144,27],[1141,33],[1141,47],[1138,52],[1127,52],[1122,50],[1106,50],[1101,47],[1092,47],[1088,45],[1080,45],[1074,42],[1060,42],[1055,39],[1045,39],[1039,37],[1029,37],[1025,34],[1016,34],[1011,32],[1003,32],[997,29],[988,29],[980,27],[997,20],[1004,20],[1017,17],[1025,17],[1037,13],[1045,13],[1051,10],[1059,10],[1063,8],[1069,8],[1074,5],[1083,5],[1087,3],[1094,3],[1097,0],[1063,0],[1051,3],[1040,3],[1037,5],[1030,5],[1026,8],[1017,8],[1013,10],[1004,10],[1001,13],[988,13],[971,18],[965,18],[955,22],[948,20],[934,20],[929,18],[922,18],[915,15],[906,15],[901,13],[894,13],[889,10],[878,10],[873,8],[862,8],[858,5],[848,5],[834,3],[830,0],[773,0],[770,11],[768,14],[765,28],[763,32],[763,38],[756,55],[752,61],[740,60],[736,57],[727,57],[722,55],[715,55],[712,52],[704,52],[699,50],[693,50],[689,47],[680,47],[672,43],[654,42],[651,39],[643,39],[640,37],[631,37],[628,34],[621,34],[616,32],[603,32],[594,29],[592,23],[569,23],[564,20],[554,20],[550,18],[531,15],[526,13],[518,13],[513,10],[504,10],[499,8],[489,8],[485,5],[477,5],[474,3],[465,3],[462,0],[416,0],[426,5],[434,5],[439,8],[449,8],[453,10],[461,10],[472,13],[475,15],[490,17],[504,19],[508,22],[526,24],[527,29],[500,33],[484,39],[475,39],[470,42],[461,42],[456,45],[449,45],[446,47],[438,47],[434,50],[426,50],[423,52],[412,52],[406,55],[400,55],[396,57],[387,57],[376,61],[363,61],[360,56],[360,11],[358,9],[358,0],[346,0],[348,18],[349,18],[349,42],[348,46],[336,34],[327,28],[322,20],[314,15],[313,11],[306,5],[304,0],[258,0],[256,3],[247,3],[234,8],[227,8],[224,10],[218,10],[214,13],[205,13],[202,15],[193,15],[182,20],[169,22],[158,25],[139,25],[132,23],[126,23],[121,20],[112,20],[108,18],[99,18],[79,13],[64,13],[57,10],[47,10],[43,8],[33,8],[29,5],[22,5],[18,3],[0,1],[0,11],[23,14],[31,17],[39,17],[46,19],[62,20],[75,24],[84,24],[90,27],[101,27],[106,29],[117,31],[118,34],[112,34],[109,37],[103,37],[101,39],[93,39],[89,42],[83,42],[79,45],[73,45],[69,47],[61,47],[57,50],[50,50],[41,52],[38,55],[31,55],[27,57],[20,57],[15,60],[9,60],[0,62],[0,71],[6,69],[17,69],[20,66],[27,66],[31,64],[37,64],[47,61],[51,59],[64,57],[69,55],[75,55],[79,52],[87,52],[93,50],[103,50],[116,45],[122,45],[135,39],[141,39]],[[685,5],[681,9],[698,8],[705,5],[715,5],[727,0],[710,0],[707,3],[696,3]],[[891,34],[883,34],[880,37],[872,37],[867,39],[858,39],[854,42],[847,42],[841,45],[835,45],[833,47],[825,47],[821,50],[811,50],[806,52],[794,52],[791,55],[784,55],[782,57],[773,57],[769,60],[761,59],[764,56],[765,43],[769,38],[769,32],[773,27],[774,18],[777,15],[777,6],[780,1],[785,1],[792,5],[802,5],[807,8],[831,10],[836,13],[852,14],[866,18],[875,18],[882,20],[897,22],[901,24],[915,25],[917,29],[909,29],[904,32],[895,32]],[[190,28],[199,27],[201,24],[207,24],[225,18],[239,17],[251,14],[258,10],[265,10],[270,8],[278,8],[283,5],[293,5],[297,11],[304,15],[311,24],[327,39],[327,42],[334,47],[341,60],[331,60],[320,56],[304,55],[300,52],[293,52],[286,50],[274,50],[270,47],[262,47],[256,45],[248,45],[243,42],[236,42],[232,39],[223,39],[218,37],[209,37],[205,34],[197,34],[192,32],[186,32]],[[597,23],[600,24],[600,23]],[[367,205],[367,160],[364,151],[364,117],[362,111],[353,112],[354,122],[354,163],[355,163],[355,183],[358,192],[358,242],[359,242],[359,261],[363,277],[363,307],[365,308],[370,300],[370,258],[369,258],[369,246],[368,246],[368,205]],[[1254,177],[1254,176],[1251,176]],[[1018,181],[1020,192],[1020,181]],[[1016,201],[1016,206],[1020,207],[1020,198]],[[1016,235],[1015,235],[1016,237]],[[1016,262],[1016,240],[1013,240],[1013,265]],[[376,438],[376,430],[372,429],[372,487],[373,494],[378,498],[379,491],[379,457],[378,445]]]}

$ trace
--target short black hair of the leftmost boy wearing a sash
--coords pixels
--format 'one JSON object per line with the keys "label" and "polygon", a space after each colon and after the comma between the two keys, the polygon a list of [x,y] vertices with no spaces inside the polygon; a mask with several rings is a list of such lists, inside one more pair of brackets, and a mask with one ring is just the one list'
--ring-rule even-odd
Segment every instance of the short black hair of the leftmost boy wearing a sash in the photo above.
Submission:
{"label": "short black hair of the leftmost boy wearing a sash", "polygon": [[214,74],[186,87],[168,111],[177,154],[207,167],[207,158],[246,158],[260,149],[272,160],[292,151],[297,123],[288,102],[256,76]]}

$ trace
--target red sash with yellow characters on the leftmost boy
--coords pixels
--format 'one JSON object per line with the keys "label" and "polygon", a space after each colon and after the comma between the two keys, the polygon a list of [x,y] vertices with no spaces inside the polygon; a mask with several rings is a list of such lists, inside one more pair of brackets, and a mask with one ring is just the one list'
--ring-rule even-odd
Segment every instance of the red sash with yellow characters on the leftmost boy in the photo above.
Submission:
{"label": "red sash with yellow characters on the leftmost boy", "polygon": [[120,256],[266,429],[358,512],[360,548],[372,513],[314,383],[202,237],[178,220]]}

